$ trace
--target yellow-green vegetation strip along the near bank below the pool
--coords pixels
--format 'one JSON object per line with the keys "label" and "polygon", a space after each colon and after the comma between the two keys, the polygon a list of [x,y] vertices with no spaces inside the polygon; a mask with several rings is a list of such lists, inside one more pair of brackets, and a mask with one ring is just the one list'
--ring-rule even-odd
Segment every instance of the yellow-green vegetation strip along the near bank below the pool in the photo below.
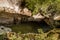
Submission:
{"label": "yellow-green vegetation strip along the near bank below the pool", "polygon": [[15,33],[15,32],[9,32],[5,35],[3,35],[3,40],[60,40],[59,39],[59,33],[57,33],[54,30],[51,30],[47,33],[44,33],[42,29],[38,29],[37,33],[26,33],[21,34]]}

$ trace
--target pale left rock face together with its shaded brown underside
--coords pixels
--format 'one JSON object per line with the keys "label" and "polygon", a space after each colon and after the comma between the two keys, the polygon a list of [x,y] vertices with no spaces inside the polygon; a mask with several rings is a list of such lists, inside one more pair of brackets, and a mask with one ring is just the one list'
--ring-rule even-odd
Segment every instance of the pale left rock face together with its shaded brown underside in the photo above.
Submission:
{"label": "pale left rock face together with its shaded brown underside", "polygon": [[23,0],[0,0],[0,23],[12,23],[14,17],[19,21],[21,17],[31,16],[32,13],[27,8],[20,8]]}

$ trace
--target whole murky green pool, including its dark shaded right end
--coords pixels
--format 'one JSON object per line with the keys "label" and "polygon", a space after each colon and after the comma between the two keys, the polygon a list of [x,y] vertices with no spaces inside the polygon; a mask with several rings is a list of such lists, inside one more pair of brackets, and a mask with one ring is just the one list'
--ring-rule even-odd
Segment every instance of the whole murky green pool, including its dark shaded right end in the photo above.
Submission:
{"label": "whole murky green pool, including its dark shaded right end", "polygon": [[38,33],[38,29],[42,28],[44,32],[49,31],[51,28],[44,22],[22,22],[20,24],[14,24],[10,26],[13,32],[21,33]]}

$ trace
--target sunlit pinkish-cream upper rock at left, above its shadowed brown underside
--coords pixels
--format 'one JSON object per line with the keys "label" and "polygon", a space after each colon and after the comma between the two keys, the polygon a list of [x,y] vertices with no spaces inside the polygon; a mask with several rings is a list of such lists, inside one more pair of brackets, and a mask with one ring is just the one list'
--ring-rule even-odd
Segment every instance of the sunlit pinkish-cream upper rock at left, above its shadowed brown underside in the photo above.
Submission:
{"label": "sunlit pinkish-cream upper rock at left, above its shadowed brown underside", "polygon": [[31,12],[27,8],[24,8],[21,12],[21,2],[22,0],[0,0],[0,11],[31,16]]}

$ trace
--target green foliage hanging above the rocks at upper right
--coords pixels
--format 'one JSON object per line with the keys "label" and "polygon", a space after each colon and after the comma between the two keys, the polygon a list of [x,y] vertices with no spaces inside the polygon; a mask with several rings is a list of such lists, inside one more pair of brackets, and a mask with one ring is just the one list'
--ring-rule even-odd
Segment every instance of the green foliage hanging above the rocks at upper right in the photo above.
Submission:
{"label": "green foliage hanging above the rocks at upper right", "polygon": [[[58,7],[60,4],[59,0],[25,0],[25,2],[26,7],[32,11],[32,14],[38,13],[41,8],[44,12],[47,12],[46,9],[52,4],[53,8],[49,7],[51,11],[60,8]],[[54,5],[57,7],[54,7]]]}

